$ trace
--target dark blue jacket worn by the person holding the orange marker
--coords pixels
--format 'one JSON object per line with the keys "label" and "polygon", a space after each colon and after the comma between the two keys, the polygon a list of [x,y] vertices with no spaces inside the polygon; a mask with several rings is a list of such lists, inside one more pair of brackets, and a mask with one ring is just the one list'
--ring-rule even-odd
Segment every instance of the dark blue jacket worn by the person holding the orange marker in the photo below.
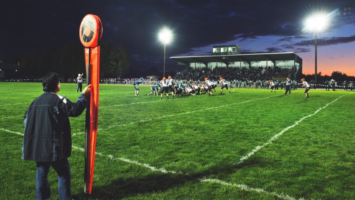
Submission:
{"label": "dark blue jacket worn by the person holding the orange marker", "polygon": [[64,96],[45,92],[37,97],[24,114],[22,159],[50,162],[70,157],[70,117],[86,108],[85,94],[76,103]]}

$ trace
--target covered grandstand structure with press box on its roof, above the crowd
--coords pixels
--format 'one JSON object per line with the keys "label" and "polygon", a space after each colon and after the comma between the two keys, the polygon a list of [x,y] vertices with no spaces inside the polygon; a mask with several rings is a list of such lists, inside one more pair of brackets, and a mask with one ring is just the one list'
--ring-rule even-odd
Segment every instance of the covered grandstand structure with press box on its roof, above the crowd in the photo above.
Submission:
{"label": "covered grandstand structure with press box on its roof, above the crowd", "polygon": [[[183,74],[189,70],[207,68],[218,72],[218,68],[235,69],[261,69],[259,73],[266,74],[277,69],[277,73],[272,74],[273,79],[285,80],[287,77],[291,79],[300,79],[302,74],[302,58],[294,52],[284,53],[253,53],[240,54],[240,46],[224,45],[213,46],[212,56],[182,56],[170,57],[177,61],[178,65],[186,66],[180,72]],[[218,73],[217,73],[218,74]]]}

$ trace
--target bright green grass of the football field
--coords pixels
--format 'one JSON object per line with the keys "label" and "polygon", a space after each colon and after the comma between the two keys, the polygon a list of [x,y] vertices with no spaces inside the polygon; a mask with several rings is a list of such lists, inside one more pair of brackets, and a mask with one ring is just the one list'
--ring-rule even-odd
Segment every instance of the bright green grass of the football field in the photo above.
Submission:
{"label": "bright green grass of the football field", "polygon": [[[89,199],[355,199],[353,92],[310,90],[306,99],[304,90],[219,95],[217,89],[213,97],[160,101],[146,95],[149,87],[134,96],[132,85],[100,85],[100,154]],[[76,101],[75,90],[61,84],[59,94]],[[0,82],[0,199],[35,198],[35,162],[21,160],[16,133],[23,133],[23,114],[40,94],[40,83]],[[70,118],[78,148],[84,147],[84,117]],[[73,148],[69,161],[72,194],[84,199],[84,152]],[[51,198],[58,199],[53,169],[49,182]]]}

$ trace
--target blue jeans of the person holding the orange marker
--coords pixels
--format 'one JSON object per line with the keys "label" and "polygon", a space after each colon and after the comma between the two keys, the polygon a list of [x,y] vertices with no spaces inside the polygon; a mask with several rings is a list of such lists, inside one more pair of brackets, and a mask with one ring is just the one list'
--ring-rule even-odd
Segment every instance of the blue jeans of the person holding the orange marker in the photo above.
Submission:
{"label": "blue jeans of the person holding the orange marker", "polygon": [[47,179],[52,166],[58,174],[59,199],[71,199],[71,174],[68,158],[54,162],[37,162],[36,199],[49,199],[50,186]]}

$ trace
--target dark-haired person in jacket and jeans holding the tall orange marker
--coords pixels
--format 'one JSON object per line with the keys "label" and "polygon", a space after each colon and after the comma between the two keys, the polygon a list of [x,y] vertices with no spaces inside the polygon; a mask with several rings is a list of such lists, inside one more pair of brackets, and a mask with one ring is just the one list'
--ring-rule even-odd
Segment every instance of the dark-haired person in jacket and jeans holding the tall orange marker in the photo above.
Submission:
{"label": "dark-haired person in jacket and jeans holding the tall orange marker", "polygon": [[82,114],[91,85],[84,88],[77,102],[73,103],[57,94],[60,91],[59,80],[57,73],[45,75],[42,82],[44,93],[31,103],[23,117],[22,159],[36,162],[36,199],[50,198],[47,180],[50,166],[58,174],[59,199],[71,199],[69,116]]}

